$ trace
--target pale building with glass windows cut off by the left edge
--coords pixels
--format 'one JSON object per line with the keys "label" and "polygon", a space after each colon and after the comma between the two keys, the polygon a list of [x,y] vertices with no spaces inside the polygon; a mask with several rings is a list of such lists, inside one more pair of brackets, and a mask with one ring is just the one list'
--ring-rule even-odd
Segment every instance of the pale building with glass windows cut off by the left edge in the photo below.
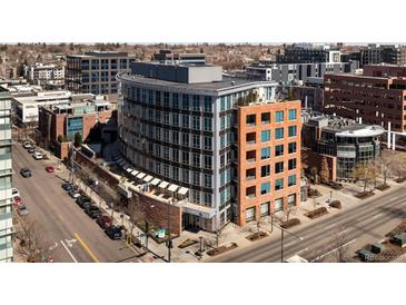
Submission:
{"label": "pale building with glass windows cut off by the left edge", "polygon": [[0,86],[0,262],[12,262],[11,97]]}

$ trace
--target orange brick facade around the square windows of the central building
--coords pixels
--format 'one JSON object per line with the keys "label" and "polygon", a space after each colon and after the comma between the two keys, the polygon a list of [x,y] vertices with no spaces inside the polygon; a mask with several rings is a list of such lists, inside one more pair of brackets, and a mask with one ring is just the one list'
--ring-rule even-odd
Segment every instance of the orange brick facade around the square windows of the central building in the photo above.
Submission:
{"label": "orange brick facade around the square windows of the central building", "polygon": [[[288,109],[296,109],[296,120],[288,120]],[[284,121],[276,122],[276,111],[284,111]],[[270,114],[270,124],[261,124],[261,114]],[[256,115],[255,125],[249,126],[246,122],[248,115]],[[297,135],[288,137],[288,126],[297,126]],[[278,127],[284,127],[284,138],[276,139],[275,130]],[[270,129],[270,141],[261,142],[261,130]],[[246,135],[256,132],[256,144],[248,144]],[[288,154],[288,142],[296,142],[296,152]],[[284,155],[276,157],[275,147],[284,145]],[[261,148],[270,147],[270,158],[261,160]],[[300,200],[300,100],[280,101],[274,104],[261,104],[254,106],[240,107],[238,109],[238,225],[242,226],[247,223],[246,210],[255,207],[255,218],[260,219],[260,205],[270,201],[269,210],[275,210],[275,200],[283,198],[284,207],[287,206],[287,197],[296,195],[296,205]],[[256,152],[256,160],[247,160],[247,151]],[[288,170],[288,160],[296,158],[296,169]],[[284,171],[275,174],[275,164],[284,161]],[[270,166],[270,175],[261,178],[261,166]],[[255,170],[256,178],[247,180],[247,169]],[[288,176],[296,174],[296,185],[288,187]],[[284,188],[275,190],[275,181],[277,178],[284,178]],[[261,183],[270,181],[270,193],[261,195]],[[256,187],[255,198],[248,198],[246,190],[249,187]]]}

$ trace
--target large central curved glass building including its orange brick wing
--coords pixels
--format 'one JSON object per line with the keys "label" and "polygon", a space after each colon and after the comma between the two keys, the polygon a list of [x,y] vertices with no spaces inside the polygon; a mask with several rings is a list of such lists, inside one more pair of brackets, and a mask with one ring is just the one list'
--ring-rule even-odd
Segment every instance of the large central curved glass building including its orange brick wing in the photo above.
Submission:
{"label": "large central curved glass building including its orange brick wing", "polygon": [[221,72],[133,62],[118,76],[121,155],[187,196],[184,227],[244,225],[299,198],[299,101],[277,102],[273,81]]}

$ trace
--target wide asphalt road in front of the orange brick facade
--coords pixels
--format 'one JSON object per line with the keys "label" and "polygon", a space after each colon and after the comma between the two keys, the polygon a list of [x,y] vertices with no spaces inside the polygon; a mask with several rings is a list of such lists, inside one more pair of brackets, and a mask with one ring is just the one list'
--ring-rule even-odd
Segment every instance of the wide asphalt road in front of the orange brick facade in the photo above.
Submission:
{"label": "wide asphalt road in front of the orange brick facade", "polygon": [[[309,260],[334,253],[343,244],[351,255],[367,243],[375,243],[406,219],[406,187],[390,189],[387,194],[343,210],[340,214],[319,219],[303,228],[290,230],[299,238],[285,233],[284,259],[295,254],[306,254]],[[326,217],[326,216],[324,216]],[[279,229],[276,229],[279,234]],[[345,243],[344,243],[345,242]],[[209,262],[280,262],[280,237],[255,242],[250,247],[225,253]],[[347,244],[348,243],[348,244]],[[350,254],[348,253],[348,254]]]}

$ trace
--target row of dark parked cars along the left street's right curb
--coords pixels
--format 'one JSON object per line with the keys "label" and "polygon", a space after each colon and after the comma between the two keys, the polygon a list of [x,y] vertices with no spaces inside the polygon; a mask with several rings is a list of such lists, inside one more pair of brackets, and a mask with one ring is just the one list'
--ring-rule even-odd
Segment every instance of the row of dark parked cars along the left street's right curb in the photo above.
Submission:
{"label": "row of dark parked cars along the left street's right curb", "polygon": [[76,203],[81,207],[90,218],[96,219],[96,223],[105,230],[107,236],[111,239],[122,238],[122,228],[113,225],[112,218],[103,215],[101,209],[91,203],[88,196],[85,196],[72,184],[65,183],[62,188],[69,194],[70,197],[76,199]]}

